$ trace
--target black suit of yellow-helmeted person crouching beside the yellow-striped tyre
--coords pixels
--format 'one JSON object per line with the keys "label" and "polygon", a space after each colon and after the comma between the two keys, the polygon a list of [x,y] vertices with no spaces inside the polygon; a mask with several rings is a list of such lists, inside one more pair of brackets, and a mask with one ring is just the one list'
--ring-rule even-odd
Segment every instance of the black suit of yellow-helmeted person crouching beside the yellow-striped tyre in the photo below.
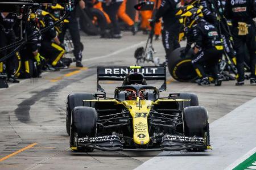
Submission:
{"label": "black suit of yellow-helmeted person crouching beside the yellow-striped tyre", "polygon": [[192,65],[196,70],[197,75],[200,78],[207,77],[204,66],[206,65],[214,78],[220,74],[218,70],[218,60],[222,57],[223,46],[221,44],[220,37],[218,36],[217,29],[213,24],[201,19],[191,30],[189,31],[187,46],[191,46],[195,43],[195,47],[199,49],[199,52],[194,54],[192,58]]}

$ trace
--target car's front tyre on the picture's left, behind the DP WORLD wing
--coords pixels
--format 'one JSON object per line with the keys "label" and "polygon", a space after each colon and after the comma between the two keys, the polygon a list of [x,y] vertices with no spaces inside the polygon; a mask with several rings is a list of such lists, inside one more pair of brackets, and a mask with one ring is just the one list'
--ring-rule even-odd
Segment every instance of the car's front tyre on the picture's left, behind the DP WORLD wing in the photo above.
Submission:
{"label": "car's front tyre on the picture's left, behind the DP WORLD wing", "polygon": [[[91,107],[75,107],[72,112],[70,147],[76,146],[77,137],[96,137],[97,111]],[[92,148],[77,147],[77,151],[92,152]]]}

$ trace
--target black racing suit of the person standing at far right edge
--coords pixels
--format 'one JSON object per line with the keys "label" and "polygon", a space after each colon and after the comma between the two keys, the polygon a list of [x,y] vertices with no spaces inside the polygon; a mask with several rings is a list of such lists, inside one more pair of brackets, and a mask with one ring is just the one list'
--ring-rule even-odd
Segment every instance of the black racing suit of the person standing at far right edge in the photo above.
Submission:
{"label": "black racing suit of the person standing at far right edge", "polygon": [[[251,78],[256,78],[255,65],[256,65],[256,56],[255,56],[255,23],[253,18],[256,17],[256,1],[255,0],[243,0],[235,1],[228,0],[226,1],[225,6],[225,16],[226,18],[232,20],[232,34],[234,38],[234,50],[236,51],[237,58],[237,70],[238,70],[238,82],[243,82],[245,79],[245,70],[244,70],[244,56],[245,56],[245,45],[249,50],[250,54],[250,70]],[[238,35],[238,22],[246,23],[248,26],[247,35]]]}

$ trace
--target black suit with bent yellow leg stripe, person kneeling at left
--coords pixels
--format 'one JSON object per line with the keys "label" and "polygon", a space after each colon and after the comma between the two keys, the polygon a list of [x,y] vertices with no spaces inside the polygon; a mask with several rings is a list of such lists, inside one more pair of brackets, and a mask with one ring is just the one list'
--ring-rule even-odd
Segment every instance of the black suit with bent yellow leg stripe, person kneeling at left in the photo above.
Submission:
{"label": "black suit with bent yellow leg stripe, person kneeling at left", "polygon": [[[47,14],[43,17],[43,20],[40,20],[40,23],[42,27],[48,27],[54,22],[51,16]],[[56,66],[65,53],[65,49],[53,41],[55,37],[57,37],[57,32],[55,28],[52,27],[47,32],[43,33],[40,47],[40,54],[48,59],[48,62],[51,63],[52,66]]]}

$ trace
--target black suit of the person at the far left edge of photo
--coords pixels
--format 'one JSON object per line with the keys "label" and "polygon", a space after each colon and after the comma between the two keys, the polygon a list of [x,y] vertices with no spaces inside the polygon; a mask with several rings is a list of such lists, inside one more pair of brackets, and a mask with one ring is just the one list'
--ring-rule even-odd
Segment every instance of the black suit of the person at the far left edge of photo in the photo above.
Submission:
{"label": "black suit of the person at the far left edge of photo", "polygon": [[[4,16],[0,12],[0,48],[7,45],[13,44],[16,40],[16,36],[13,30],[14,24],[16,22],[17,16],[14,13],[9,13]],[[0,52],[0,58],[5,57],[7,54],[11,53],[14,48],[9,48],[8,50],[2,50]],[[5,61],[7,75],[15,74],[15,54]],[[4,72],[3,62],[0,63],[0,73]]]}

